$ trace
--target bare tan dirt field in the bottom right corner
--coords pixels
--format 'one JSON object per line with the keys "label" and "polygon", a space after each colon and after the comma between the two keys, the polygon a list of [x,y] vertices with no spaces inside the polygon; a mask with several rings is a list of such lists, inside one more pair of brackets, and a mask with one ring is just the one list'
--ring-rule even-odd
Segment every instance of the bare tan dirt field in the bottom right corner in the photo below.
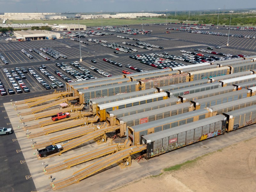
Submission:
{"label": "bare tan dirt field in the bottom right corner", "polygon": [[118,192],[251,192],[256,188],[256,138],[198,157],[179,170],[163,171]]}

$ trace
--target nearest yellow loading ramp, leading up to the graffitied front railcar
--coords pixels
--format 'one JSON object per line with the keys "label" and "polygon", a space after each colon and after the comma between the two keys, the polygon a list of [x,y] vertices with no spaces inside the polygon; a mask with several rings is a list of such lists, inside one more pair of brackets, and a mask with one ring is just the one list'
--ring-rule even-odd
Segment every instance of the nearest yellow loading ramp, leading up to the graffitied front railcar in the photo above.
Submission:
{"label": "nearest yellow loading ramp, leading up to the graffitied front railcar", "polygon": [[[118,163],[122,168],[130,166],[131,165],[131,155],[141,152],[142,150],[145,150],[146,146],[139,145],[139,146],[131,146],[129,148],[125,148],[121,151],[118,151],[112,155],[108,155],[105,158],[87,166],[83,169],[80,169],[77,172],[74,172],[72,176],[66,177],[61,180],[54,181],[51,183],[51,186],[53,190],[66,187],[68,185],[71,185],[73,183],[80,182],[80,180],[83,180],[97,172],[100,172],[101,170],[109,167],[110,165]],[[129,163],[128,163],[129,162]]]}

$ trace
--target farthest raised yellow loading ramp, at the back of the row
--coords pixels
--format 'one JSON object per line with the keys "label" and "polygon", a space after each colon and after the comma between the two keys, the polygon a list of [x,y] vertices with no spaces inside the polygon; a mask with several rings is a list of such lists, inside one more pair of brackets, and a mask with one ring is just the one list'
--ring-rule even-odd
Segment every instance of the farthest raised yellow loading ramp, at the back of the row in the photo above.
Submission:
{"label": "farthest raised yellow loading ramp, at the back of the row", "polygon": [[27,100],[27,102],[24,100],[24,102],[28,103],[27,106],[17,107],[17,109],[20,110],[20,109],[25,109],[25,108],[31,108],[31,107],[42,104],[49,100],[66,98],[68,95],[71,95],[71,94],[72,94],[72,92],[61,92],[61,93],[45,95],[42,97],[32,98],[32,99],[29,99],[30,102],[28,102],[28,100]]}

